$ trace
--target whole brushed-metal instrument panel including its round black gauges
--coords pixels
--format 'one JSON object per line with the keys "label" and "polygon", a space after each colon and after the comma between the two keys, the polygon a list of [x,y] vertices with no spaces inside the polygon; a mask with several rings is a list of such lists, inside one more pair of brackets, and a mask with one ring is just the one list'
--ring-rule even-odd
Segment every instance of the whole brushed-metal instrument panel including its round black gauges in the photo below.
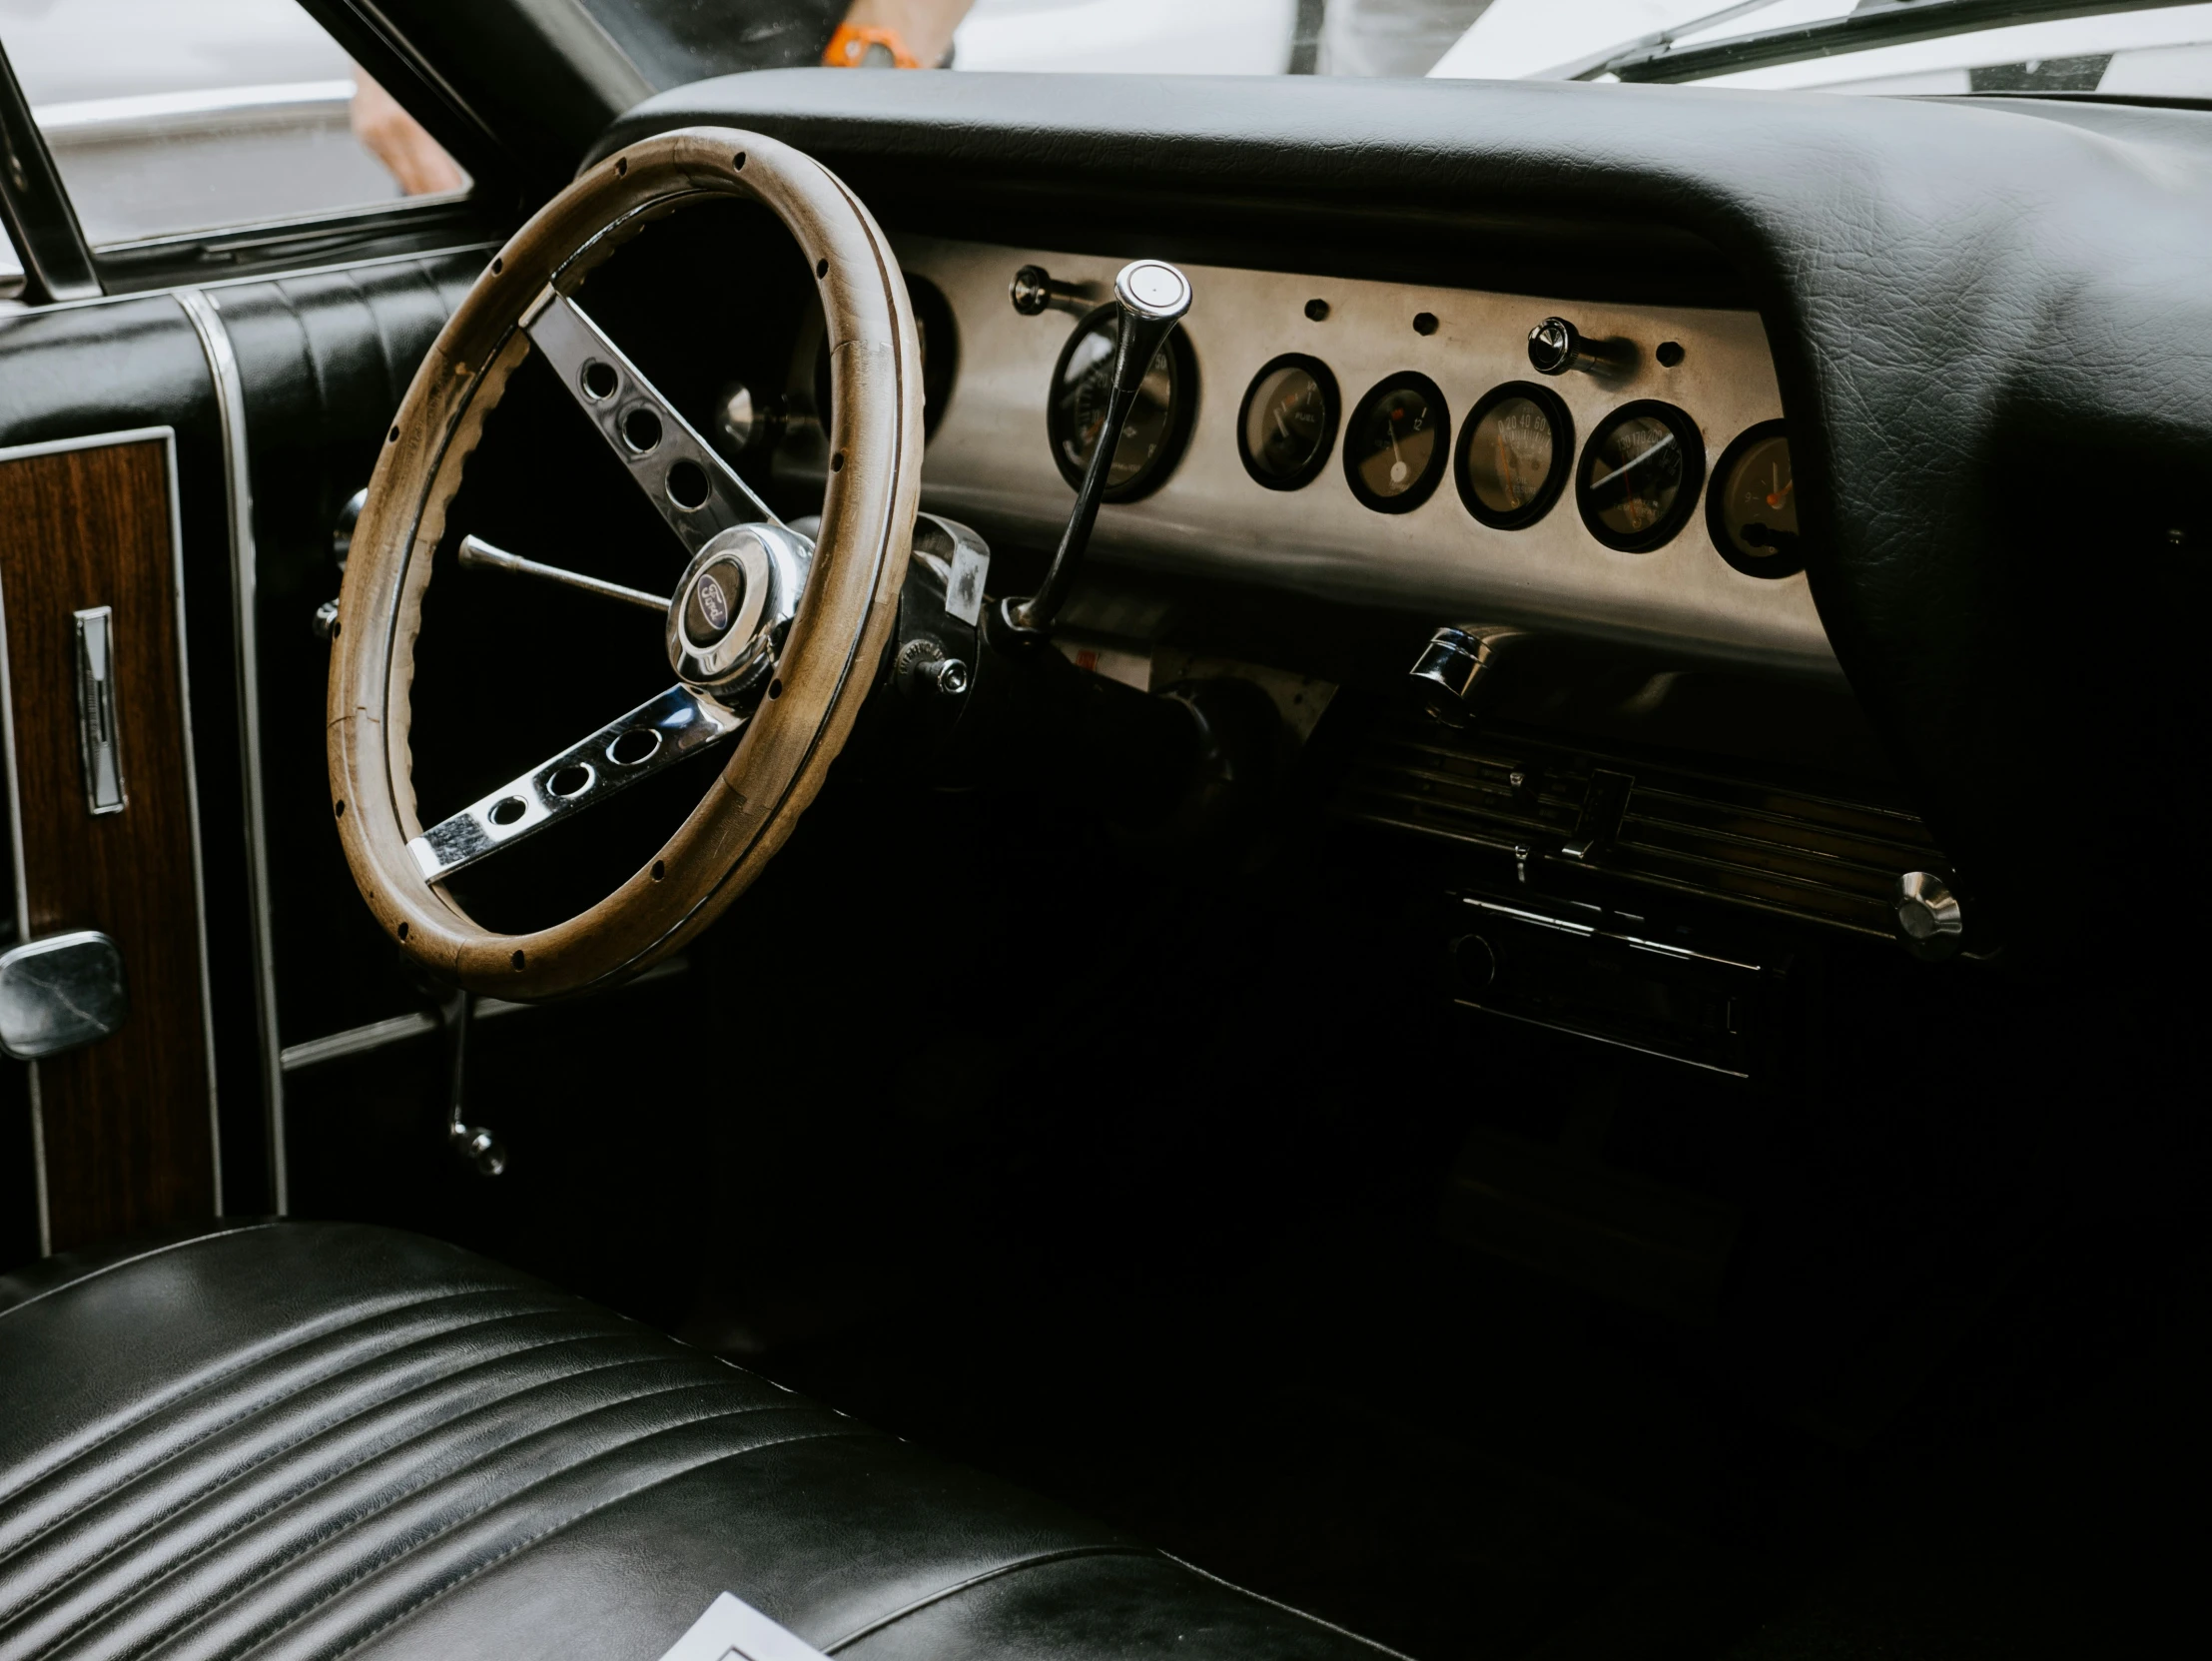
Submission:
{"label": "whole brushed-metal instrument panel including its round black gauges", "polygon": [[[925,506],[1051,546],[1097,442],[1124,261],[894,243],[958,330]],[[1024,268],[1051,276],[1029,312]],[[1838,675],[1756,312],[1183,270],[1190,316],[1119,436],[1093,557]],[[1531,330],[1562,318],[1575,367],[1537,374]]]}

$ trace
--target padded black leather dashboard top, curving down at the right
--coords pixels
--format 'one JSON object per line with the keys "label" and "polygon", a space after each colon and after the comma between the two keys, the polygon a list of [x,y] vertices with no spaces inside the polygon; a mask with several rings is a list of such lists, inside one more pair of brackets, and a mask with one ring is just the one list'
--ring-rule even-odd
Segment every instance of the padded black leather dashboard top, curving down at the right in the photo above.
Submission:
{"label": "padded black leather dashboard top, curving down at the right", "polygon": [[[2205,836],[2185,619],[2212,568],[2212,115],[768,71],[648,100],[597,155],[699,122],[818,155],[889,223],[1011,241],[1073,203],[1130,254],[1241,219],[1276,226],[1272,263],[1336,270],[1455,228],[1495,285],[1566,226],[1632,296],[1663,234],[1701,239],[1767,323],[1829,639],[1975,902],[2106,962],[2197,902],[2159,874]],[[2090,845],[2159,902],[2048,905]]]}

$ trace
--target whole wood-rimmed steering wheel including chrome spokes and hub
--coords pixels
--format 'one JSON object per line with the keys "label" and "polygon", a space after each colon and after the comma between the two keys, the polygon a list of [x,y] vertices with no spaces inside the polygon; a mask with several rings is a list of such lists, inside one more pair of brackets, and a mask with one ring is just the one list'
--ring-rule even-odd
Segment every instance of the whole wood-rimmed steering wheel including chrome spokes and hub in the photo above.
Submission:
{"label": "whole wood-rimmed steering wheel including chrome spokes and hub", "polygon": [[[834,396],[812,544],[568,299],[648,221],[708,197],[765,206],[814,270]],[[422,595],[462,467],[533,349],[690,555],[666,621],[675,686],[425,827],[407,741]],[[712,922],[792,834],[876,679],[920,462],[920,352],[898,261],[867,208],[799,150],[732,128],[666,133],[611,155],[515,232],[407,389],[338,599],[332,812],[354,880],[400,949],[476,993],[560,997],[613,984]],[[675,836],[588,911],[509,936],[447,894],[456,871],[732,737]]]}

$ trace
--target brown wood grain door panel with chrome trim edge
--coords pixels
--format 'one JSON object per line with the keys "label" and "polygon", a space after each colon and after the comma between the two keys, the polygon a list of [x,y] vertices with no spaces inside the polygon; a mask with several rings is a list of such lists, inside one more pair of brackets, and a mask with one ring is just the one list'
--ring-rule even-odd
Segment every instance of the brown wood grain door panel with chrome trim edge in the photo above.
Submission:
{"label": "brown wood grain door panel with chrome trim edge", "polygon": [[[131,1013],[31,1064],[49,1250],[219,1208],[199,832],[166,429],[0,451],[0,615],[22,938],[104,929]],[[115,608],[126,807],[86,803],[75,613]]]}

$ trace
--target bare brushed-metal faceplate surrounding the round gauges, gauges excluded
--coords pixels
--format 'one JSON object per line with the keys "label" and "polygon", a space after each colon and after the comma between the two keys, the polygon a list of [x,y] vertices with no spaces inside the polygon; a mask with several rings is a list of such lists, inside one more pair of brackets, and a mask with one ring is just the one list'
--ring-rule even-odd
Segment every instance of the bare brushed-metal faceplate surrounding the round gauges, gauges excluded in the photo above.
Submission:
{"label": "bare brushed-metal faceplate surrounding the round gauges, gauges excluded", "polygon": [[[960,374],[922,462],[922,502],[987,533],[1051,544],[1073,491],[1046,438],[1046,391],[1068,334],[1068,310],[1022,316],[1006,285],[1022,265],[1082,283],[1099,303],[1121,257],[894,237],[916,276],[936,283],[960,330]],[[1128,257],[1144,248],[1130,248]],[[1506,380],[1540,380],[1575,418],[1575,451],[1619,405],[1661,398],[1690,414],[1705,440],[1705,476],[1745,427],[1781,416],[1781,394],[1756,312],[1590,305],[1413,283],[1296,276],[1188,265],[1186,330],[1199,363],[1190,447],[1152,495],[1099,513],[1093,555],[1234,582],[1398,606],[1438,624],[1524,624],[1635,641],[1708,661],[1838,677],[1803,575],[1752,577],[1712,546],[1703,500],[1681,533],[1650,553],[1599,544],[1568,484],[1533,526],[1495,531],[1460,502],[1447,473],[1411,513],[1376,513],[1345,482],[1343,429],[1327,467],[1303,489],[1270,491],[1245,471],[1237,411],[1252,376],[1285,352],[1321,358],[1349,418],[1389,374],[1418,369],[1444,394],[1451,442],[1475,400]],[[1310,301],[1327,316],[1312,321]],[[1413,318],[1436,318],[1420,334]],[[1555,378],[1528,367],[1528,330],[1571,318],[1590,338],[1637,352],[1619,378]],[[1677,367],[1657,347],[1683,347]]]}

